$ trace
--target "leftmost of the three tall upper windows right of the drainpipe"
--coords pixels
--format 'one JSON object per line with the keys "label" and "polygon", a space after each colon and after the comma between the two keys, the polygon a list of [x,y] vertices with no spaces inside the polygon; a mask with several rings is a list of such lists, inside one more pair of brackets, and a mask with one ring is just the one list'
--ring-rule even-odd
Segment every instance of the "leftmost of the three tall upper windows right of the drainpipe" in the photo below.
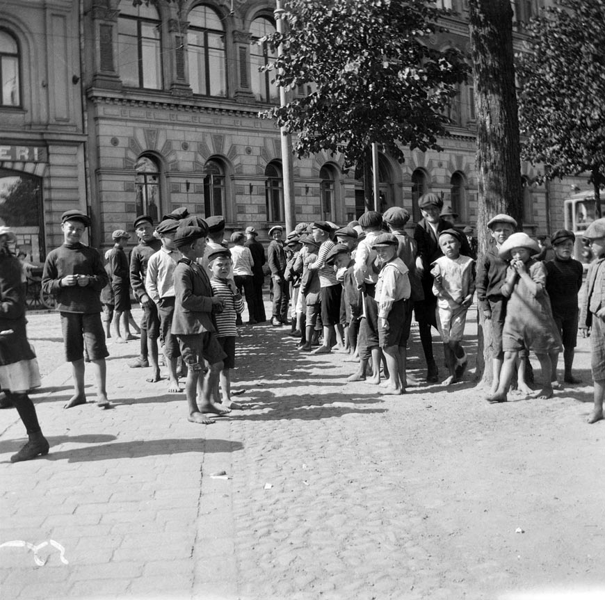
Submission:
{"label": "leftmost of the three tall upper windows right of the drainpipe", "polygon": [[118,18],[118,69],[124,86],[161,90],[161,22],[145,3],[120,2]]}

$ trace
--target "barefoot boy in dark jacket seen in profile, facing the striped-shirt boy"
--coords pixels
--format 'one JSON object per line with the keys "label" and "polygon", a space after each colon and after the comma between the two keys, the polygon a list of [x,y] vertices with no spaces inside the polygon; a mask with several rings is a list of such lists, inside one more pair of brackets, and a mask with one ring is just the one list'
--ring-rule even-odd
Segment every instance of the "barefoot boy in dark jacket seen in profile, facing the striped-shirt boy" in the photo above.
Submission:
{"label": "barefoot boy in dark jacket seen in profile, facing the striped-shirt boy", "polygon": [[[174,272],[175,311],[172,316],[172,334],[179,341],[181,355],[187,364],[185,394],[191,423],[214,423],[207,414],[224,414],[211,401],[218,374],[223,368],[225,352],[215,337],[211,314],[213,309],[223,310],[224,301],[212,295],[207,269],[196,260],[204,256],[207,227],[181,225],[174,236],[174,243],[182,257]],[[197,405],[197,385],[204,377],[202,403]]]}

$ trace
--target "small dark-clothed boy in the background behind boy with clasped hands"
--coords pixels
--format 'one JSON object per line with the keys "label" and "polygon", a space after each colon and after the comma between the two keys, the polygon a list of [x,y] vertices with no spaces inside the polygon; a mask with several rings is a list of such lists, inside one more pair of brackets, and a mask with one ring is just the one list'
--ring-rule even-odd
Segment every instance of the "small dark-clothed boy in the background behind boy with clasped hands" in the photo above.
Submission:
{"label": "small dark-clothed boy in the background behind boy with clasped hands", "polygon": [[[127,245],[130,235],[124,229],[116,229],[111,234],[113,248],[109,251],[107,260],[109,263],[111,290],[113,291],[113,319],[111,325],[115,330],[115,343],[126,343],[135,339],[130,333],[130,270],[124,246]],[[124,327],[124,337],[120,332],[120,321]]]}

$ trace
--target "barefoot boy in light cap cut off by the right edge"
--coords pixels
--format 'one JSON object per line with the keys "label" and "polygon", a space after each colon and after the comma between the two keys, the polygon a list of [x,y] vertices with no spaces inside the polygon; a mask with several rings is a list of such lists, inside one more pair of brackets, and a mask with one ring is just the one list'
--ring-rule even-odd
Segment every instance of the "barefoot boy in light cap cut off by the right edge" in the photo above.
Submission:
{"label": "barefoot boy in light cap cut off by the right edge", "polygon": [[592,327],[590,345],[595,407],[588,417],[588,423],[596,423],[603,419],[605,397],[605,219],[590,223],[583,237],[590,242],[590,250],[595,256],[586,275],[586,294],[582,302],[580,323]]}

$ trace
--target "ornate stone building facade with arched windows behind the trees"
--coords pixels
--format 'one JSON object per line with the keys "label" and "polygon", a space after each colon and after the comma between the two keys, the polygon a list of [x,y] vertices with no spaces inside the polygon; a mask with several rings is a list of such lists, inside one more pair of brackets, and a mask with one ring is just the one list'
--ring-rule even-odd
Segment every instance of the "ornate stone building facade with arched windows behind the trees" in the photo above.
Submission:
{"label": "ornate stone building facade with arched windows behind the trees", "polygon": [[[468,50],[466,1],[438,4],[455,12],[449,33],[430,43]],[[536,5],[513,2],[517,41]],[[228,231],[252,225],[262,240],[284,222],[280,131],[259,118],[278,102],[270,76],[258,72],[271,51],[256,41],[274,31],[274,8],[271,0],[2,3],[0,60],[10,66],[16,56],[19,92],[0,102],[0,200],[10,177],[36,178],[40,259],[61,242],[58,216],[74,207],[90,213],[91,242],[102,248],[138,214],[177,206],[222,214]],[[471,81],[449,117],[442,152],[406,152],[403,164],[380,154],[380,209],[404,206],[418,219],[415,201],[432,190],[460,225],[475,225]],[[570,185],[587,187],[586,177],[537,186],[527,164],[522,176],[533,234],[561,227]],[[363,183],[339,156],[295,159],[293,179],[297,222],[343,224],[364,210]]]}

